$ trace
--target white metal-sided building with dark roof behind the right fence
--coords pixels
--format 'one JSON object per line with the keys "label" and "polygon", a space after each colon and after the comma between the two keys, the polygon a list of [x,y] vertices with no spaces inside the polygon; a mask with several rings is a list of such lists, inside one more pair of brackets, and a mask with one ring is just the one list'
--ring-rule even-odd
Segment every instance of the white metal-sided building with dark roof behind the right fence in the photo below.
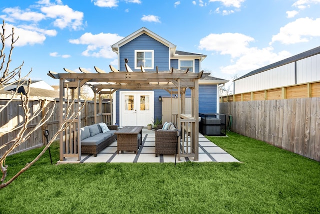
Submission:
{"label": "white metal-sided building with dark roof behind the right fence", "polygon": [[234,80],[234,94],[320,81],[320,46]]}

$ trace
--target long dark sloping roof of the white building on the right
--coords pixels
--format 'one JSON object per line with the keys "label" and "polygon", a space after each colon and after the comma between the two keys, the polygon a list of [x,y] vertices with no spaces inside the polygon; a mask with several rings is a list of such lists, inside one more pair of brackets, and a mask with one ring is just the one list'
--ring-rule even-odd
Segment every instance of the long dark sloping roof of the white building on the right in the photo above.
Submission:
{"label": "long dark sloping roof of the white building on the right", "polygon": [[[276,67],[288,64],[288,63],[292,63],[292,62],[295,62],[297,60],[301,60],[301,59],[304,59],[304,58],[307,58],[307,57],[310,57],[310,56],[313,56],[313,55],[316,55],[316,54],[320,54],[320,46],[316,47],[316,48],[313,48],[311,50],[302,52],[300,54],[294,55],[292,57],[286,58],[284,60],[278,61],[276,63],[272,63],[270,65],[267,65],[267,66],[264,66],[262,68],[256,69],[254,71],[251,71],[251,72],[249,72],[249,73],[237,78],[236,80],[239,80],[239,79],[242,79],[242,78],[257,74],[257,73],[260,73],[260,72],[264,72],[266,70],[270,70],[272,68],[276,68]],[[236,81],[236,80],[234,80],[234,81]]]}

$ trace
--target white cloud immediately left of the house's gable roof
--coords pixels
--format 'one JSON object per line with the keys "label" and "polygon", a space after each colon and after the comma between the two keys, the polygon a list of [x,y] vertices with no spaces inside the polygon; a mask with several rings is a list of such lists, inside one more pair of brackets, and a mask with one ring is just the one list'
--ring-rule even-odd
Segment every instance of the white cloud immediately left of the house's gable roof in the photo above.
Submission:
{"label": "white cloud immediately left of the house's gable roof", "polygon": [[83,56],[112,59],[116,54],[111,50],[110,46],[122,38],[123,37],[117,34],[100,33],[93,35],[91,33],[85,33],[79,39],[69,40],[69,43],[87,45],[86,50],[82,52]]}

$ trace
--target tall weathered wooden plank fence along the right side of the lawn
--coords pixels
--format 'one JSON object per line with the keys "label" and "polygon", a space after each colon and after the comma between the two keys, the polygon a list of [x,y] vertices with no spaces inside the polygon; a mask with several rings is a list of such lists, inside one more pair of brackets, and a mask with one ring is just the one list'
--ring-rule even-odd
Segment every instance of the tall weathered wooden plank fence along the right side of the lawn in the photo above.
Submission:
{"label": "tall weathered wooden plank fence along the right side of the lawn", "polygon": [[320,97],[220,103],[231,131],[320,161]]}

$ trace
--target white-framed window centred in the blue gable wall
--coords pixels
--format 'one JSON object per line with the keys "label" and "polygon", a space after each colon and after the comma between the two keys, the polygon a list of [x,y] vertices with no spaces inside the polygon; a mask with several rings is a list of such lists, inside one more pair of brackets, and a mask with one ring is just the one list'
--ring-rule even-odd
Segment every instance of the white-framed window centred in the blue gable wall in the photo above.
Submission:
{"label": "white-framed window centred in the blue gable wall", "polygon": [[153,50],[134,50],[134,69],[153,69]]}

